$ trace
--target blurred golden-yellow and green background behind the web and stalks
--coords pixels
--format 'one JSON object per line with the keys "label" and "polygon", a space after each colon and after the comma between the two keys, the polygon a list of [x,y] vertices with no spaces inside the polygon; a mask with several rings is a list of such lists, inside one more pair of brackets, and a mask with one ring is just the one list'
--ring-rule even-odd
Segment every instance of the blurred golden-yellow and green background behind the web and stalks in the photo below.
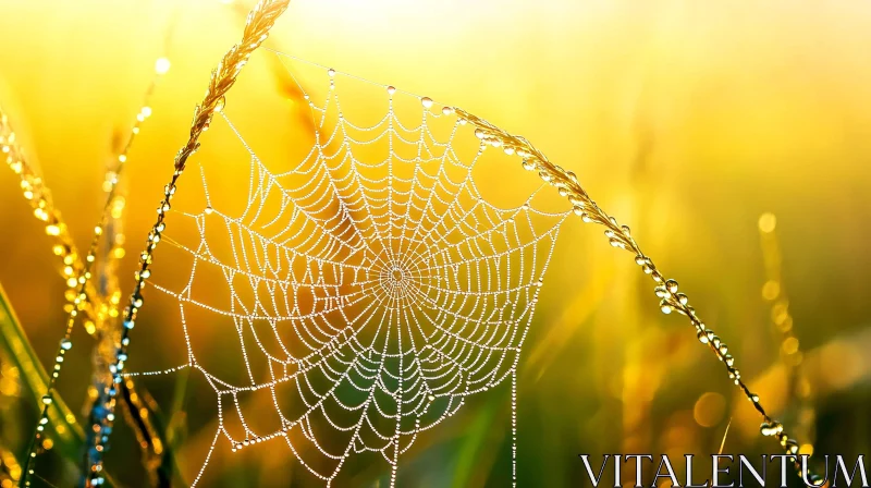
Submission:
{"label": "blurred golden-yellow and green background behind the web and stalks", "polygon": [[[113,141],[130,131],[175,19],[172,66],[126,170],[125,293],[194,105],[249,7],[0,4],[0,106],[79,248],[99,216]],[[871,439],[869,27],[863,1],[299,0],[268,45],[463,107],[529,138],[575,171],[680,282],[802,452],[813,441],[819,453],[855,455]],[[242,77],[240,90],[280,89],[265,64]],[[246,109],[249,117],[262,110]],[[505,178],[511,185],[532,176]],[[51,241],[7,168],[0,209],[0,283],[49,364],[62,333],[64,283]],[[760,220],[766,212],[776,218]],[[776,289],[765,284],[760,227],[776,235],[782,254]],[[785,309],[772,307],[785,291],[789,327]],[[523,486],[577,486],[586,476],[578,453],[715,453],[729,422],[724,452],[778,452],[722,365],[657,303],[631,256],[609,246],[599,228],[566,225],[522,359]],[[134,331],[132,356],[172,363],[181,344],[155,338],[173,325],[150,314]],[[784,340],[785,329],[793,339]],[[81,331],[77,339],[88,344]],[[60,385],[75,412],[89,381],[88,349],[76,347]],[[800,364],[801,385],[787,387],[785,364]],[[172,378],[147,386],[158,399],[174,388]],[[26,399],[21,411],[35,411]],[[210,401],[188,399],[187,417],[201,417],[189,422],[179,451],[188,481],[213,432]],[[407,486],[510,479],[508,390],[470,403],[407,455]],[[28,418],[4,419],[2,442],[24,449]],[[135,441],[120,430],[107,466],[124,486],[139,486]],[[287,486],[299,469],[286,450],[218,455],[209,478],[216,486]],[[50,479],[74,476],[74,465],[42,466],[58,469]],[[387,475],[376,466],[353,483],[383,486]]]}

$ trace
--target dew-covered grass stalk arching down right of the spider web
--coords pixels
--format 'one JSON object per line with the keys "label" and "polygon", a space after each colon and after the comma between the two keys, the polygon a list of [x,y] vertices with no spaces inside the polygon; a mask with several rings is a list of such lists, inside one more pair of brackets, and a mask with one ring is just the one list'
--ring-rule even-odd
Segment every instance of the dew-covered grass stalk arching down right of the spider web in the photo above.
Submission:
{"label": "dew-covered grass stalk arching down right of the spider web", "polygon": [[[599,205],[590,198],[584,187],[580,186],[575,173],[553,164],[526,138],[508,134],[486,120],[475,117],[459,108],[455,108],[454,110],[457,117],[475,127],[475,135],[482,139],[483,143],[495,147],[502,147],[508,155],[516,154],[523,158],[524,169],[538,171],[539,178],[550,185],[555,186],[560,195],[566,197],[572,204],[574,212],[585,222],[603,225],[605,228],[605,236],[612,246],[635,254],[635,263],[641,267],[646,274],[650,274],[650,278],[657,283],[654,293],[661,298],[660,309],[664,314],[676,312],[689,319],[690,325],[696,329],[696,337],[699,342],[706,344],[711,352],[714,353],[716,358],[725,365],[729,379],[735,382],[741,393],[752,403],[756,411],[762,416],[762,425],[760,427],[761,434],[777,439],[785,454],[794,456],[794,462],[797,461],[795,456],[798,454],[798,442],[790,438],[784,430],[783,424],[772,418],[769,413],[765,412],[759,395],[751,392],[747,383],[741,379],[740,371],[737,366],[735,366],[735,357],[729,354],[726,343],[702,322],[696,314],[696,309],[689,305],[687,295],[678,291],[677,281],[666,279],[664,274],[657,269],[652,259],[641,251],[641,247],[635,242],[635,239],[633,239],[628,225],[618,223],[614,217],[611,217],[599,207]],[[796,469],[800,469],[798,463],[796,463]],[[808,479],[811,481],[822,480],[822,478],[814,474],[809,475]]]}

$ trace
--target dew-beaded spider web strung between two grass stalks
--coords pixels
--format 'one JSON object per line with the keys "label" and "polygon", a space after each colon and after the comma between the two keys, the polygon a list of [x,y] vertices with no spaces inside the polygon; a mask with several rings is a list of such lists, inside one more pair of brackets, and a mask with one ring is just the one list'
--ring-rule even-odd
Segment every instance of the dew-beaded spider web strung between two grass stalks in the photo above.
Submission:
{"label": "dew-beaded spider web strung between two grass stalks", "polygon": [[[268,56],[307,105],[310,149],[267,162],[225,111],[216,117],[212,131],[247,156],[247,196],[224,204],[244,190],[214,191],[225,176],[199,158],[198,203],[174,206],[163,237],[184,279],[149,281],[176,303],[187,362],[128,374],[192,368],[214,391],[218,429],[194,485],[222,439],[234,452],[280,439],[327,485],[375,452],[393,486],[420,432],[506,379],[516,440],[517,363],[567,212],[538,209],[538,190],[504,208],[484,198],[474,170],[507,158],[450,107],[318,65],[327,87],[309,93],[290,64],[299,60]],[[345,84],[377,94],[355,98]],[[343,101],[385,113],[355,123]],[[193,231],[173,234],[185,222]],[[204,333],[244,367],[207,364]],[[248,412],[256,395],[272,407]]]}

